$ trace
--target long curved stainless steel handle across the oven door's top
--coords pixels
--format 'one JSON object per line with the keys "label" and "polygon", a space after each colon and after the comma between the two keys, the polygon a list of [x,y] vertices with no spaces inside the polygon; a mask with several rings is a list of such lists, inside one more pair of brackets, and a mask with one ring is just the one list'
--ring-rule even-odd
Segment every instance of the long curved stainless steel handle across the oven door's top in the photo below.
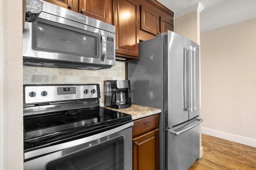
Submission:
{"label": "long curved stainless steel handle across the oven door's top", "polygon": [[34,157],[38,157],[38,156],[41,156],[41,155],[46,155],[46,154],[49,154],[49,153],[57,152],[59,150],[64,150],[66,148],[70,148],[70,147],[73,147],[73,146],[84,144],[86,142],[90,142],[90,141],[93,141],[93,140],[96,140],[96,139],[99,139],[99,138],[102,138],[102,137],[105,137],[105,136],[109,136],[111,134],[114,134],[116,132],[119,132],[121,130],[124,130],[124,129],[132,127],[132,126],[133,126],[133,122],[130,122],[130,123],[126,123],[125,125],[122,125],[120,127],[116,127],[116,128],[111,129],[111,130],[107,130],[105,132],[102,132],[102,133],[99,133],[99,134],[94,134],[92,136],[88,136],[88,137],[85,137],[85,138],[72,140],[72,141],[69,141],[69,142],[56,144],[56,145],[53,145],[53,146],[48,146],[48,147],[40,148],[40,149],[37,149],[37,150],[31,150],[31,151],[28,151],[28,152],[24,153],[24,160],[26,161],[27,159],[33,159]]}

